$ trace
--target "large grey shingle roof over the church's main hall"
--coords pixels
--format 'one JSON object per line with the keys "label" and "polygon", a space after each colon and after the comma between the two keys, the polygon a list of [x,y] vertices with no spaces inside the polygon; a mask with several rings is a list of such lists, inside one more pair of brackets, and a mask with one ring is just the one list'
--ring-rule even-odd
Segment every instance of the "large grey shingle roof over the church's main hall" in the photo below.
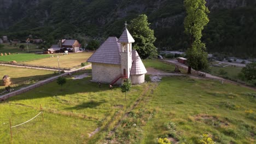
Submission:
{"label": "large grey shingle roof over the church's main hall", "polygon": [[109,37],[87,60],[91,63],[121,64],[118,38]]}

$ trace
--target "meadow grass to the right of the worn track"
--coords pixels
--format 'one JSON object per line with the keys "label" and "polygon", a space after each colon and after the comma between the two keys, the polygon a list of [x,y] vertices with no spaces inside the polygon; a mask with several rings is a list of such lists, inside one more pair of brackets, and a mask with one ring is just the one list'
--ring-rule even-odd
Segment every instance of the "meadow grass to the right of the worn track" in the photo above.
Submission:
{"label": "meadow grass to the right of the worn track", "polygon": [[[255,93],[215,81],[191,83],[187,77],[165,77],[146,105],[146,109],[156,109],[156,115],[144,127],[142,143],[155,143],[158,137],[197,143],[202,134],[210,134],[219,143],[253,143],[255,119],[248,118],[245,110],[255,112],[256,107],[246,92]],[[175,133],[167,129],[168,122],[176,124]]]}

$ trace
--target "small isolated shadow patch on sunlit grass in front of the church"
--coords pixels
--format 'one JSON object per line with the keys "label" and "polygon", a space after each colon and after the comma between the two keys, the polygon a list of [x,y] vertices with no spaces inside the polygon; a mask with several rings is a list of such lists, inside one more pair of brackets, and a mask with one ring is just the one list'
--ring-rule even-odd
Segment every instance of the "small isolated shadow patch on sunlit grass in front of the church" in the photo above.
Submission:
{"label": "small isolated shadow patch on sunlit grass in front of the church", "polygon": [[91,108],[92,109],[94,107],[100,106],[103,103],[106,103],[106,100],[103,100],[103,101],[91,100],[91,101],[88,101],[88,102],[84,102],[80,105],[76,105],[74,107],[68,107],[64,110],[81,110],[81,109],[86,109],[86,108]]}

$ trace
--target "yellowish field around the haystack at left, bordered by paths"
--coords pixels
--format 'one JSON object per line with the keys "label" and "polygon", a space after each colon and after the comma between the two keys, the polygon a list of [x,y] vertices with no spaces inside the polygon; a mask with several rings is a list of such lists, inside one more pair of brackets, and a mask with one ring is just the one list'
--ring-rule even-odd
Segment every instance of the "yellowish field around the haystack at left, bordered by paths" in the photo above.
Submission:
{"label": "yellowish field around the haystack at left, bordered by paths", "polygon": [[[15,68],[15,67],[3,67],[0,66],[0,76],[9,75],[11,77],[12,88],[18,88],[20,86],[30,85],[37,81],[47,79],[54,75],[54,71]],[[4,90],[3,81],[0,82],[0,92]]]}

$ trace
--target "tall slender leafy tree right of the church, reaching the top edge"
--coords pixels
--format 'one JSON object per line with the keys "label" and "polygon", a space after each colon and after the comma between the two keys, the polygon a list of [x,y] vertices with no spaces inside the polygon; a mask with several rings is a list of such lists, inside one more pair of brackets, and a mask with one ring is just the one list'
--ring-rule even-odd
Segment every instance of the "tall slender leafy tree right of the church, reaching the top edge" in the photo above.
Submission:
{"label": "tall slender leafy tree right of the church, reaching the top edge", "polygon": [[187,11],[187,16],[184,20],[184,28],[185,33],[190,35],[190,47],[186,51],[189,65],[188,74],[191,74],[191,68],[202,70],[206,69],[208,66],[206,47],[205,44],[201,42],[203,27],[209,22],[207,13],[210,13],[205,4],[205,0],[184,1],[184,6]]}

